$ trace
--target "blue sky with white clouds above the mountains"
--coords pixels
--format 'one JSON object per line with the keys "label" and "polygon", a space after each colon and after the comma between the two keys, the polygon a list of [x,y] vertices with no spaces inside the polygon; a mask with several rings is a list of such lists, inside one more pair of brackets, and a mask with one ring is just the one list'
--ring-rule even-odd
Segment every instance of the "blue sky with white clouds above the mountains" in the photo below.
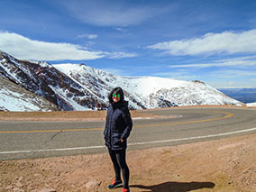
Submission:
{"label": "blue sky with white clouds above the mountains", "polygon": [[256,87],[255,0],[0,0],[0,50],[122,76]]}

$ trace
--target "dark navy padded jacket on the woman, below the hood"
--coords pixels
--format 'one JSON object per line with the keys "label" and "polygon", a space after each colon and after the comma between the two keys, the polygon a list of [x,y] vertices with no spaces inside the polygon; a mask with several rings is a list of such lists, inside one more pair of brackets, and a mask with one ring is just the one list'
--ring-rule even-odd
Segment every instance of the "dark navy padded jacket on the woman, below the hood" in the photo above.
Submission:
{"label": "dark navy padded jacket on the woman, below the hood", "polygon": [[[127,148],[127,138],[133,127],[133,121],[128,109],[128,102],[118,102],[109,105],[105,121],[105,145],[111,150]],[[123,142],[121,142],[123,139]]]}

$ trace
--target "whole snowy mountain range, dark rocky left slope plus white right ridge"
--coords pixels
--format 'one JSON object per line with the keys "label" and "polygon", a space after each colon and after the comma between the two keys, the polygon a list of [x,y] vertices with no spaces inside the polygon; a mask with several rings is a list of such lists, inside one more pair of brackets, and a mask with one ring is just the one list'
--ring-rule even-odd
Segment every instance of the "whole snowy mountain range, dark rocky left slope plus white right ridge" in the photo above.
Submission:
{"label": "whole snowy mountain range, dark rocky left slope plus white right ridge", "polygon": [[242,104],[200,81],[121,77],[85,64],[18,60],[1,51],[0,77],[44,97],[59,110],[105,109],[107,94],[114,87],[123,88],[131,109]]}

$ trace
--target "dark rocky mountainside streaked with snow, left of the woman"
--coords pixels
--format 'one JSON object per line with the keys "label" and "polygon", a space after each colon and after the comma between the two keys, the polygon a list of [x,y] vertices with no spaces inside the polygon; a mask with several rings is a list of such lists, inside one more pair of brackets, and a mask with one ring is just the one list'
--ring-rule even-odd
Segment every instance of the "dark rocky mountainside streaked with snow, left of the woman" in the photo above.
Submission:
{"label": "dark rocky mountainside streaked with snow, left of the woman", "polygon": [[[90,110],[105,107],[102,99],[96,99],[87,88],[55,69],[47,62],[18,60],[0,52],[0,77],[44,97],[59,110]],[[2,104],[0,104],[2,105]]]}

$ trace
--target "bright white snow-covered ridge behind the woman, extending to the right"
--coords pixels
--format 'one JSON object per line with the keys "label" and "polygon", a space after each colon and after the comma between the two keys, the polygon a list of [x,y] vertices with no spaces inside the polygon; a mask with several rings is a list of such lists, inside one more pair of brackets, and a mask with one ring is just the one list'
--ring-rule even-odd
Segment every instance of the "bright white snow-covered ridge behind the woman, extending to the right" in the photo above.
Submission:
{"label": "bright white snow-covered ridge behind the woman, extending to the right", "polygon": [[[170,78],[127,78],[86,65],[62,64],[56,69],[69,78],[98,93],[105,102],[114,87],[123,87],[125,98],[132,108],[158,108],[184,105],[238,105],[239,102],[203,82],[181,81]],[[99,83],[100,82],[100,83]]]}

